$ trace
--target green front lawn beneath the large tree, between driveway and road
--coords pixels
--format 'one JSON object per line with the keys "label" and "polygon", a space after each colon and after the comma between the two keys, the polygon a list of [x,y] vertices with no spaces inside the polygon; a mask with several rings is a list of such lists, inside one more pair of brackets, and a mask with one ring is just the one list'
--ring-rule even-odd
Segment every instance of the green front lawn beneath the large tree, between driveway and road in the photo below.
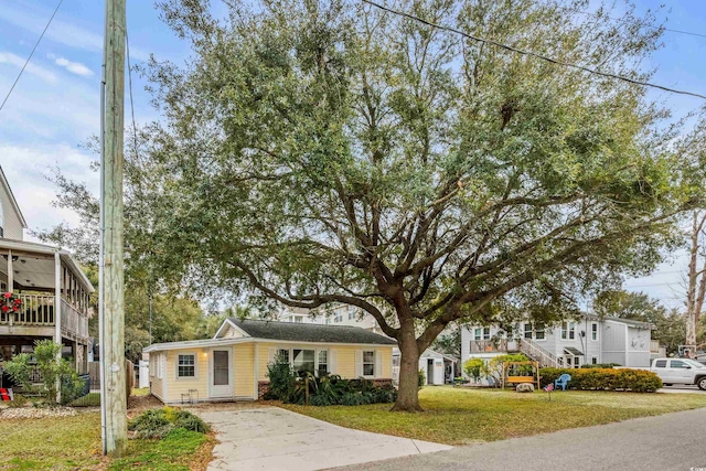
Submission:
{"label": "green front lawn beneath the large tree, between driveway and road", "polygon": [[448,445],[468,445],[706,407],[706,395],[424,387],[424,413],[372,406],[281,407],[343,427]]}

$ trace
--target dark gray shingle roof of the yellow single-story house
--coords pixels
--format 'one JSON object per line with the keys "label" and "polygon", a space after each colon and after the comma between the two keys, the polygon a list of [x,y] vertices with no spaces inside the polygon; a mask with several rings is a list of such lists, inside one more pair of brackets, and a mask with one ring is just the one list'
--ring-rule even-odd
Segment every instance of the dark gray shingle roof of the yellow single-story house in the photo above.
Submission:
{"label": "dark gray shingle roof of the yellow single-story house", "polygon": [[248,335],[257,339],[376,345],[397,344],[397,341],[391,338],[352,325],[306,324],[236,318],[228,318],[228,320]]}

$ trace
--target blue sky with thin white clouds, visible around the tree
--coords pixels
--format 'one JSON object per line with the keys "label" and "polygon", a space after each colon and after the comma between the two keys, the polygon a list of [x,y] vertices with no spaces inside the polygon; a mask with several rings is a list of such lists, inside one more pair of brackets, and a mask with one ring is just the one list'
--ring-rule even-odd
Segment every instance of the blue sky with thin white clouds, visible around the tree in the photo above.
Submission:
{"label": "blue sky with thin white clouds, visible around the tree", "polygon": [[[706,34],[706,2],[674,1],[657,18],[666,28]],[[218,0],[212,2],[221,9]],[[54,0],[0,0],[0,99],[9,90],[46,21]],[[638,12],[659,8],[659,1],[637,1]],[[159,19],[151,0],[128,0],[128,32],[133,63],[154,54],[158,60],[182,62],[186,45]],[[104,28],[104,1],[64,0],[30,66],[0,111],[0,165],[32,228],[44,228],[75,215],[52,207],[55,189],[45,176],[58,167],[71,178],[98,189],[98,175],[88,169],[94,156],[78,146],[99,130],[99,83]],[[654,83],[706,94],[706,38],[666,32],[664,47],[654,54]],[[138,122],[157,118],[145,83],[133,75]],[[654,93],[675,116],[704,105],[686,96]],[[126,119],[126,122],[127,119]],[[629,280],[668,306],[682,303],[682,272],[686,259],[677,256],[651,277]]]}

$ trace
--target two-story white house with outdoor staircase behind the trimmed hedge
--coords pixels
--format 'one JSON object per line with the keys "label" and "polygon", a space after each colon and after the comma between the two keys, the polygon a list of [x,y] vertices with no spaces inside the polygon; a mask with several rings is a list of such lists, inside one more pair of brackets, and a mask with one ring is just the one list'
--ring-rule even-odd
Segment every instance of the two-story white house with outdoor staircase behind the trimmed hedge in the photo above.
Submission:
{"label": "two-story white house with outdoor staircase behind the trimmed hedge", "polygon": [[541,366],[578,368],[585,364],[616,363],[650,366],[653,325],[627,319],[585,314],[557,325],[536,322],[515,324],[507,333],[498,325],[471,325],[461,330],[461,364],[469,358],[491,360],[507,353],[524,353]]}

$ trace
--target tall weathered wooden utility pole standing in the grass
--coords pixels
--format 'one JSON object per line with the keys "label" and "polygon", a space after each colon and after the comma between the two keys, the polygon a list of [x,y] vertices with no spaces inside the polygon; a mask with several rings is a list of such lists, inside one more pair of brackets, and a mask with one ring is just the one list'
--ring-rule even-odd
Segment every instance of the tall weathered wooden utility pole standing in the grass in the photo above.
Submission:
{"label": "tall weathered wooden utility pole standing in the grass", "polygon": [[125,100],[126,0],[107,0],[105,31],[105,122],[100,165],[101,339],[104,453],[127,447],[125,312],[122,276],[122,135]]}

